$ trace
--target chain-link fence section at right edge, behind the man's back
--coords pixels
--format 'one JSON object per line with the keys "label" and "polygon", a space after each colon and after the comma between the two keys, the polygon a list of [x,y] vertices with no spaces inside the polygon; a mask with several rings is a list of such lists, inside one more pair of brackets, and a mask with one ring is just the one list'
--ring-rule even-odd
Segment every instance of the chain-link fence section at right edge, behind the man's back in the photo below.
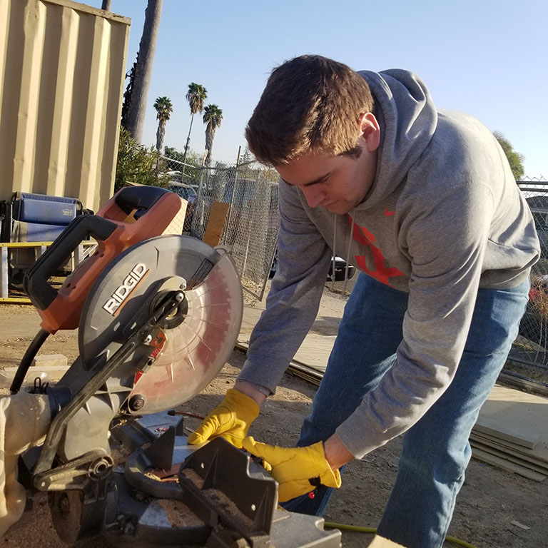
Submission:
{"label": "chain-link fence section at right edge, behind the man's back", "polygon": [[540,240],[541,256],[531,270],[529,303],[521,324],[519,336],[510,352],[513,360],[548,369],[548,181],[524,178],[518,181],[533,214]]}

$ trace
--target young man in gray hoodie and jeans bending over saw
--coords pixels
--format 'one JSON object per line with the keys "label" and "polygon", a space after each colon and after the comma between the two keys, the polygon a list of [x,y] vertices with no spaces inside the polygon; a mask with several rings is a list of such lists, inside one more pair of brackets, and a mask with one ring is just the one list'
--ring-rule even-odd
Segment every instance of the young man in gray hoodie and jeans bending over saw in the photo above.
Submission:
{"label": "young man in gray hoodie and jeans bending over saw", "polygon": [[[272,465],[288,509],[321,514],[342,465],[405,432],[378,532],[440,547],[539,258],[504,153],[474,118],[438,111],[414,74],[320,56],[273,71],[246,137],[280,174],[278,270],[234,389],[189,441],[243,445]],[[361,273],[299,447],[245,438],[335,255]]]}

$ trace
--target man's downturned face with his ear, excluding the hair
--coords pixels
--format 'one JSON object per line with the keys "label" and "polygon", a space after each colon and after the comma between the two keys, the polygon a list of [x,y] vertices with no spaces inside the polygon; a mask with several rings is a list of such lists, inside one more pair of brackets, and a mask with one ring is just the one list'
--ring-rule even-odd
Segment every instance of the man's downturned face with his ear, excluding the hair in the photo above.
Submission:
{"label": "man's downturned face with his ear, excluding the hair", "polygon": [[[374,117],[373,120],[377,124]],[[288,164],[276,166],[286,183],[303,191],[311,208],[325,208],[345,215],[367,195],[375,179],[380,131],[378,125],[362,123],[365,128],[359,139],[360,156],[306,153]]]}

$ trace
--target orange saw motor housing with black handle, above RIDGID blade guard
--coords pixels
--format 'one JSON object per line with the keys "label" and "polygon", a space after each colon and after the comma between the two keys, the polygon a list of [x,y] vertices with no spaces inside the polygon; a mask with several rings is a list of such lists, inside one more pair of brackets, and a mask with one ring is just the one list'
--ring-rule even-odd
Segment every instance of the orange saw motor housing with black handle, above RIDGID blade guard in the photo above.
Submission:
{"label": "orange saw motor housing with black handle, above RIDGID blade guard", "polygon": [[[73,220],[27,271],[24,287],[42,318],[41,327],[51,334],[76,329],[83,303],[106,265],[131,245],[162,235],[182,205],[176,193],[163,188],[125,187],[95,215]],[[48,278],[90,236],[98,243],[95,252],[68,275],[59,290],[52,288]]]}

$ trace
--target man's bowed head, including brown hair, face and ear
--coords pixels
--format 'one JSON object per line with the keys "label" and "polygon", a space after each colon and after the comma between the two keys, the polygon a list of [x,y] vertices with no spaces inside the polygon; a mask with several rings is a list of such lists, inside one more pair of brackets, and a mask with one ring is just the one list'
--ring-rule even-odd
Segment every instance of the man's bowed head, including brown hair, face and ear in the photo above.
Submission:
{"label": "man's bowed head, including brown hair, face and ear", "polygon": [[256,158],[300,188],[311,208],[344,215],[375,179],[380,128],[372,108],[359,74],[301,56],[275,68],[245,136]]}

